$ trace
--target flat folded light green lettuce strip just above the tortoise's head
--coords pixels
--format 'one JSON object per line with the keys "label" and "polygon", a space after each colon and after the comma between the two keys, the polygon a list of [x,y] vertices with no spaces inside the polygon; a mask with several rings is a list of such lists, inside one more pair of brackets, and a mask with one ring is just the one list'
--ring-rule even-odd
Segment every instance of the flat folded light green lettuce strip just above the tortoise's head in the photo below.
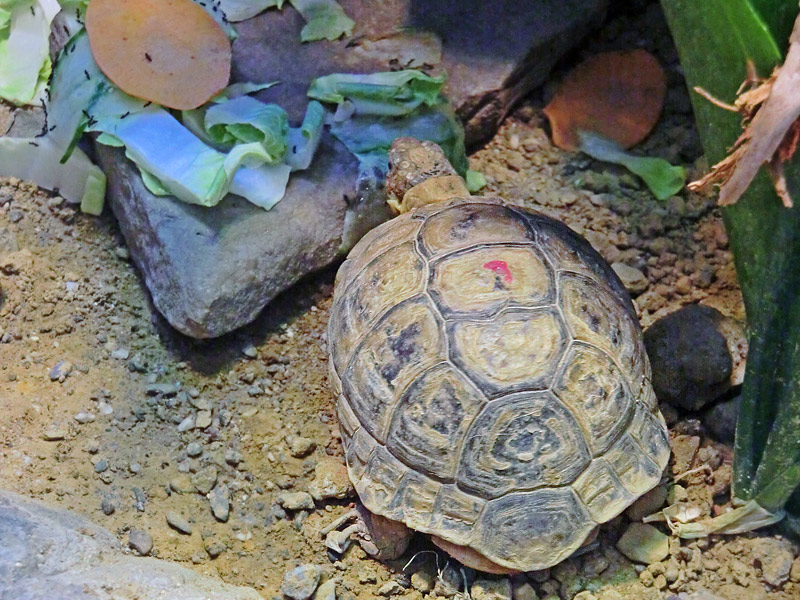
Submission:
{"label": "flat folded light green lettuce strip just above the tortoise's head", "polygon": [[356,115],[400,116],[440,100],[446,76],[406,69],[357,75],[333,73],[311,82],[308,95],[321,102],[351,102]]}

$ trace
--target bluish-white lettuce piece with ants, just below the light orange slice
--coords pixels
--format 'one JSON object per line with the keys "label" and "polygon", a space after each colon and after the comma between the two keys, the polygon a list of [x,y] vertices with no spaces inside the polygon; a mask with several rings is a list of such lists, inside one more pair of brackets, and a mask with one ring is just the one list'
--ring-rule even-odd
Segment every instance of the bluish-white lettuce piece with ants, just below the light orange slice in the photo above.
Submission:
{"label": "bluish-white lettuce piece with ants, just below the light orange slice", "polygon": [[[216,205],[232,191],[237,171],[243,168],[257,171],[255,175],[245,171],[236,184],[236,193],[251,202],[274,204],[285,190],[285,182],[278,189],[281,178],[272,171],[269,177],[258,172],[272,160],[260,142],[236,144],[227,153],[219,152],[168,111],[113,86],[94,63],[85,32],[70,40],[60,56],[49,112],[56,129],[48,135],[58,147],[73,148],[84,131],[105,134],[101,141],[125,145],[126,155],[147,173],[143,175],[146,185],[168,190],[184,202]],[[281,172],[289,169],[284,165]],[[256,183],[271,187],[259,189]]]}

